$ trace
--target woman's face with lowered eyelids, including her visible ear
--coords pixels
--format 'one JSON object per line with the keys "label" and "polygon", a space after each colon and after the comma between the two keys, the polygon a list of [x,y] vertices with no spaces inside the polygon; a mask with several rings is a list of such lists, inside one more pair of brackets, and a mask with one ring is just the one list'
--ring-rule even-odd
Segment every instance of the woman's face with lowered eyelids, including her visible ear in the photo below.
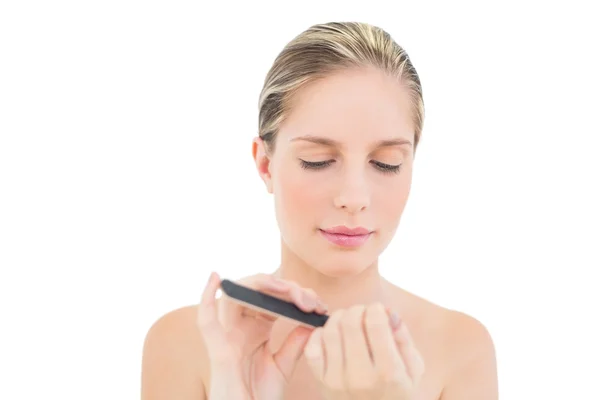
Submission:
{"label": "woman's face with lowered eyelids, including her visible ear", "polygon": [[[337,72],[297,93],[274,154],[265,155],[260,139],[253,148],[274,195],[284,252],[332,277],[360,273],[377,260],[410,191],[411,117],[407,90],[377,69]],[[323,232],[339,226],[371,233]]]}

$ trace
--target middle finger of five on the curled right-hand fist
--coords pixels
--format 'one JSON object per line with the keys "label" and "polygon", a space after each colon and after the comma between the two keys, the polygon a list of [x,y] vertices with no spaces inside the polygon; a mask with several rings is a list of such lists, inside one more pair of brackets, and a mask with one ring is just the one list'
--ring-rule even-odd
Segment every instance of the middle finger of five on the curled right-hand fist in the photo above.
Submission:
{"label": "middle finger of five on the curled right-hand fist", "polygon": [[369,380],[374,377],[373,361],[363,328],[364,305],[350,307],[340,321],[344,343],[345,372],[347,382]]}

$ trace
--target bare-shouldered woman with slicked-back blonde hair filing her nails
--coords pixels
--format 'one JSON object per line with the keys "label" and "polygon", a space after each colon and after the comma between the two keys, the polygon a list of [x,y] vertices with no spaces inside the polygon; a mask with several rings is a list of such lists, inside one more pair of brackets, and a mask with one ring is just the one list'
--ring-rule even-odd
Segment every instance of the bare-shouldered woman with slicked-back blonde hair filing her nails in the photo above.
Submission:
{"label": "bare-shouldered woman with slicked-back blonde hair filing her nails", "polygon": [[275,60],[259,106],[252,152],[275,199],[281,264],[240,283],[329,320],[308,329],[217,300],[213,272],[198,306],[150,329],[142,398],[496,399],[486,328],[378,271],[423,127],[406,52],[369,24],[312,26]]}

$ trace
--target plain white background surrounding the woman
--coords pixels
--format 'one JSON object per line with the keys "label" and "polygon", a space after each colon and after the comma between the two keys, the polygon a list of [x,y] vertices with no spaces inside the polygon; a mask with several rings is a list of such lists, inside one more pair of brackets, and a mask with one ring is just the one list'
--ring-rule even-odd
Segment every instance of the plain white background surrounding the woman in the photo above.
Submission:
{"label": "plain white background surrounding the woman", "polygon": [[210,270],[277,267],[258,95],[333,20],[423,82],[383,274],[488,327],[501,398],[600,398],[600,32],[593,2],[548,3],[2,2],[0,398],[138,398],[157,318]]}

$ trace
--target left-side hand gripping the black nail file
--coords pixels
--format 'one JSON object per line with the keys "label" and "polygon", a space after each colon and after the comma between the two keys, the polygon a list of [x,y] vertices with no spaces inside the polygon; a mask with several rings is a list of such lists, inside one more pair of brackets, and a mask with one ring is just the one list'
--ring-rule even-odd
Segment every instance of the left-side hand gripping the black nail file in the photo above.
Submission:
{"label": "left-side hand gripping the black nail file", "polygon": [[[314,291],[270,275],[238,282],[291,301],[304,311],[325,313]],[[279,400],[294,371],[311,329],[298,326],[272,354],[269,339],[274,318],[223,296],[215,300],[221,279],[212,273],[198,306],[198,326],[210,362],[210,399]]]}

